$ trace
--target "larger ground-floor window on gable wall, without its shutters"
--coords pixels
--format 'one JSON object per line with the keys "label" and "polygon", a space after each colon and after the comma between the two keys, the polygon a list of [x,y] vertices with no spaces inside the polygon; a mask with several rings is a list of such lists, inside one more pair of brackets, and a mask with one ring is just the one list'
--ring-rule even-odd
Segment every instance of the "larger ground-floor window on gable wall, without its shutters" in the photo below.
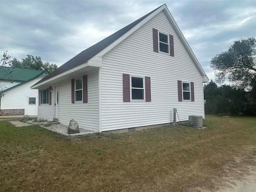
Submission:
{"label": "larger ground-floor window on gable wall, without its shutters", "polygon": [[131,77],[132,100],[144,100],[144,78]]}

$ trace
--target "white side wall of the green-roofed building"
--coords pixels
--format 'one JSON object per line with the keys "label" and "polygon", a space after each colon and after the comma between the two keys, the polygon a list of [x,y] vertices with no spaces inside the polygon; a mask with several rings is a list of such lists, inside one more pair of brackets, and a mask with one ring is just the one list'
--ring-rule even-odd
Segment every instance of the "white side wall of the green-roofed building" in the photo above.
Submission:
{"label": "white side wall of the green-roofed building", "polygon": [[[41,80],[42,77],[31,80],[16,88],[4,92],[1,98],[1,109],[24,109],[25,115],[38,115],[38,90],[30,89],[30,86]],[[28,104],[29,98],[36,98],[36,104]]]}

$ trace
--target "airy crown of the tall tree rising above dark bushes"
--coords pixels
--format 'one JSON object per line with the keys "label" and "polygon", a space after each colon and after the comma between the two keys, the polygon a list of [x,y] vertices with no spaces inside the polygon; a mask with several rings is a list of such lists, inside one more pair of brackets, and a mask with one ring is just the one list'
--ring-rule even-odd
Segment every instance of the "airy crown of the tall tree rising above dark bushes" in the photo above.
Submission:
{"label": "airy crown of the tall tree rising above dark bushes", "polygon": [[252,89],[256,79],[256,39],[235,41],[228,51],[216,55],[210,65],[218,83],[228,80],[236,87]]}

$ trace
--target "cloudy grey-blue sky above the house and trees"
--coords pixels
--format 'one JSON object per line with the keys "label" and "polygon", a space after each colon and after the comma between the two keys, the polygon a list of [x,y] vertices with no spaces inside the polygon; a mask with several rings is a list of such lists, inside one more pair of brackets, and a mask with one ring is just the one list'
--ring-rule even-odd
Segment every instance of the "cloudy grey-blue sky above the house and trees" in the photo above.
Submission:
{"label": "cloudy grey-blue sky above the house and trees", "polygon": [[0,0],[0,51],[60,66],[164,3],[209,78],[213,56],[256,37],[255,0]]}

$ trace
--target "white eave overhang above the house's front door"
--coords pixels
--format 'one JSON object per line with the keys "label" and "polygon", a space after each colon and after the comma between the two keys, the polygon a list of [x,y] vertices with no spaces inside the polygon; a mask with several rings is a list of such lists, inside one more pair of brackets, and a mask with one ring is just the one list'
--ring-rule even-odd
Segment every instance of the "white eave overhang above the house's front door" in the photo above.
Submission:
{"label": "white eave overhang above the house's front door", "polygon": [[70,70],[64,71],[52,78],[49,78],[43,82],[40,82],[39,84],[34,84],[30,87],[30,89],[42,89],[46,88],[48,86],[52,86],[53,84],[57,84],[60,81],[66,80],[68,78],[76,78],[78,76],[82,76],[86,72],[101,68],[102,62],[98,61],[89,61],[84,64],[81,64],[75,68],[72,68]]}

